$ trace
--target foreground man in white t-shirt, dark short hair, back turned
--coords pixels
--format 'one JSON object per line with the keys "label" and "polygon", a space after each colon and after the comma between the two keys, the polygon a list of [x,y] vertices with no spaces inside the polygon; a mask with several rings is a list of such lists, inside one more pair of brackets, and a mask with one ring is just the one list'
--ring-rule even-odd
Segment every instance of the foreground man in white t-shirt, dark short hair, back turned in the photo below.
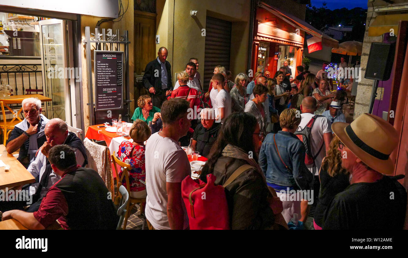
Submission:
{"label": "foreground man in white t-shirt, dark short hair, back turned", "polygon": [[186,229],[181,182],[191,174],[190,163],[178,140],[187,134],[190,105],[172,98],[162,105],[163,129],[146,142],[146,219],[149,229]]}

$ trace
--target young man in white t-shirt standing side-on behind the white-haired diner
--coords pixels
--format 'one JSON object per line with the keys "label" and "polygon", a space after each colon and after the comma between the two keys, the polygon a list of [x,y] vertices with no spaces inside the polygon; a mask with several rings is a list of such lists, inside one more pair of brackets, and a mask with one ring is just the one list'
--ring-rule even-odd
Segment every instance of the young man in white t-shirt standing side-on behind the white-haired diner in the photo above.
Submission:
{"label": "young man in white t-shirt standing side-on behind the white-haired diner", "polygon": [[215,120],[216,122],[221,122],[223,124],[226,118],[231,114],[231,96],[224,89],[225,78],[222,73],[214,74],[211,80],[213,81],[212,91],[218,91],[213,106],[215,111]]}

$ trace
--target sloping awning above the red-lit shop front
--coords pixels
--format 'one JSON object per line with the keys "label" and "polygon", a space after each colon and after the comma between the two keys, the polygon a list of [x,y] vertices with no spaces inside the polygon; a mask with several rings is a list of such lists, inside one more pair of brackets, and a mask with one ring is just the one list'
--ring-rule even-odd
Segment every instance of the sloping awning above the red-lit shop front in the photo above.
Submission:
{"label": "sloping awning above the red-lit shop front", "polygon": [[264,2],[261,2],[259,4],[259,7],[273,13],[274,15],[278,16],[279,18],[281,18],[285,22],[289,23],[290,25],[292,25],[294,27],[297,27],[297,28],[301,29],[302,31],[305,31],[305,32],[307,32],[309,34],[312,34],[313,36],[322,38],[322,44],[324,46],[334,47],[334,48],[339,47],[339,42],[337,40],[327,36],[322,31],[319,31],[318,29],[315,29],[312,25],[308,24],[304,20],[301,20],[301,19],[299,19],[299,18],[297,18],[297,17],[295,17],[295,16],[293,16],[291,14],[284,13],[284,12],[280,11],[279,9],[277,9],[276,7],[270,7],[268,4],[265,4]]}

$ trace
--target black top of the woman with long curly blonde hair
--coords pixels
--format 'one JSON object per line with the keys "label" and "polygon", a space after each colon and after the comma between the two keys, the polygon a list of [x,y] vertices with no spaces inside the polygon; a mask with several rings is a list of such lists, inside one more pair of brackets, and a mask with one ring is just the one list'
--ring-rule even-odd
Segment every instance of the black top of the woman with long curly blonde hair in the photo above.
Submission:
{"label": "black top of the woman with long curly blonde hair", "polygon": [[320,191],[319,191],[319,202],[317,203],[315,216],[313,217],[316,224],[322,227],[324,222],[324,211],[330,204],[330,201],[350,185],[348,181],[348,174],[340,173],[335,177],[331,177],[326,169],[320,170]]}

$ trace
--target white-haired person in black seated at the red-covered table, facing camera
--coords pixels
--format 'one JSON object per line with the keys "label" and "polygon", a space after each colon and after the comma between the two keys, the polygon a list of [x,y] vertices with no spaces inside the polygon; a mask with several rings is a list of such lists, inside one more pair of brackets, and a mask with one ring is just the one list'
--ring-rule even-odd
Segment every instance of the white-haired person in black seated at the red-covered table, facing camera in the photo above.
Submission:
{"label": "white-haired person in black seated at the red-covered table, facing camera", "polygon": [[201,124],[197,125],[193,134],[193,150],[207,157],[215,140],[217,140],[221,123],[215,123],[214,109],[205,108],[200,112]]}

